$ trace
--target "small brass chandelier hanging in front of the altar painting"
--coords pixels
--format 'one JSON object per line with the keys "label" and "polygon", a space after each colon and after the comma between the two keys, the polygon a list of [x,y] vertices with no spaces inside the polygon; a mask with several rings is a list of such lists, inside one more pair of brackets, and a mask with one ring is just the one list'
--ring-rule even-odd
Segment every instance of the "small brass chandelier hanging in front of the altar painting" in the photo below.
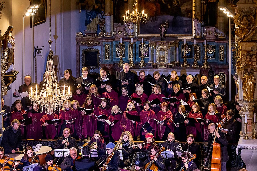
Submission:
{"label": "small brass chandelier hanging in front of the altar painting", "polygon": [[139,22],[144,24],[147,22],[147,14],[144,13],[144,10],[142,11],[142,13],[138,12],[136,1],[133,6],[133,11],[129,13],[129,10],[127,10],[126,15],[123,15],[123,21],[127,25],[138,25]]}

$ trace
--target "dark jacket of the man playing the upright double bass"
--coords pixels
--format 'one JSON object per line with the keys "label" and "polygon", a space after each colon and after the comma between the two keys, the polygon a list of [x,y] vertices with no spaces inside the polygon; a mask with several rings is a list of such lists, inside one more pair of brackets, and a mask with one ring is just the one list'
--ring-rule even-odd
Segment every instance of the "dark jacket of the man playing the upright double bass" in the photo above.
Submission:
{"label": "dark jacket of the man playing the upright double bass", "polygon": [[[228,161],[228,149],[227,149],[228,140],[226,139],[224,133],[222,133],[221,131],[218,131],[218,133],[220,134],[220,138],[216,137],[215,142],[220,144],[221,162],[226,162],[226,161]],[[209,136],[208,136],[208,147],[209,148],[212,147],[213,137],[214,137],[214,135],[212,135],[212,134],[209,134]]]}

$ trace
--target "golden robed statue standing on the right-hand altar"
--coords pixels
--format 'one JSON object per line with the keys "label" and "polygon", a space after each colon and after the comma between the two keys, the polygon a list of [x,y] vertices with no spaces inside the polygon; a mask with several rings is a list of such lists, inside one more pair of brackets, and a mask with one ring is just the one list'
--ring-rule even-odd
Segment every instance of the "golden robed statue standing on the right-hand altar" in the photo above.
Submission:
{"label": "golden robed statue standing on the right-hand altar", "polygon": [[256,79],[254,74],[251,72],[251,68],[249,67],[243,76],[243,95],[244,100],[246,101],[254,101],[254,91],[256,86]]}

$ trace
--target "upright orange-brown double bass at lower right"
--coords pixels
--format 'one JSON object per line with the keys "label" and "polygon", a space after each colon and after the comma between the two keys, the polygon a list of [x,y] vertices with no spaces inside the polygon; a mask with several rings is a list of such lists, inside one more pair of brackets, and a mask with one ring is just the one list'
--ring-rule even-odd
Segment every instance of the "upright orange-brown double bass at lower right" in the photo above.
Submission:
{"label": "upright orange-brown double bass at lower right", "polygon": [[[226,122],[226,116],[221,115],[222,120],[219,122],[216,131],[218,132],[218,129]],[[206,163],[210,157],[210,152],[212,151],[212,158],[211,158],[211,166],[210,170],[211,171],[217,171],[221,170],[221,150],[220,150],[220,144],[215,142],[216,136],[214,135],[213,140],[212,140],[212,146],[209,149],[208,155],[206,157],[206,160],[204,162],[204,169],[209,170],[209,167],[206,167]]]}

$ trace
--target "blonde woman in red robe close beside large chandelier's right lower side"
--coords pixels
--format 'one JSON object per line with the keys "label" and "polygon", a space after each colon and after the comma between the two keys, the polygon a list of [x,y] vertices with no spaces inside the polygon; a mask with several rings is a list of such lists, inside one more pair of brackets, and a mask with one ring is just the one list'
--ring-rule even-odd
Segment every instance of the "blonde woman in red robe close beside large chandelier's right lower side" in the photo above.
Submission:
{"label": "blonde woman in red robe close beside large chandelier's right lower side", "polygon": [[[69,128],[71,130],[71,135],[74,132],[74,120],[69,122],[71,119],[75,118],[75,110],[71,106],[70,100],[65,100],[63,102],[63,108],[59,112],[59,119],[61,119],[61,130],[59,132],[59,137],[62,136],[63,130]],[[67,121],[63,121],[67,120]]]}

